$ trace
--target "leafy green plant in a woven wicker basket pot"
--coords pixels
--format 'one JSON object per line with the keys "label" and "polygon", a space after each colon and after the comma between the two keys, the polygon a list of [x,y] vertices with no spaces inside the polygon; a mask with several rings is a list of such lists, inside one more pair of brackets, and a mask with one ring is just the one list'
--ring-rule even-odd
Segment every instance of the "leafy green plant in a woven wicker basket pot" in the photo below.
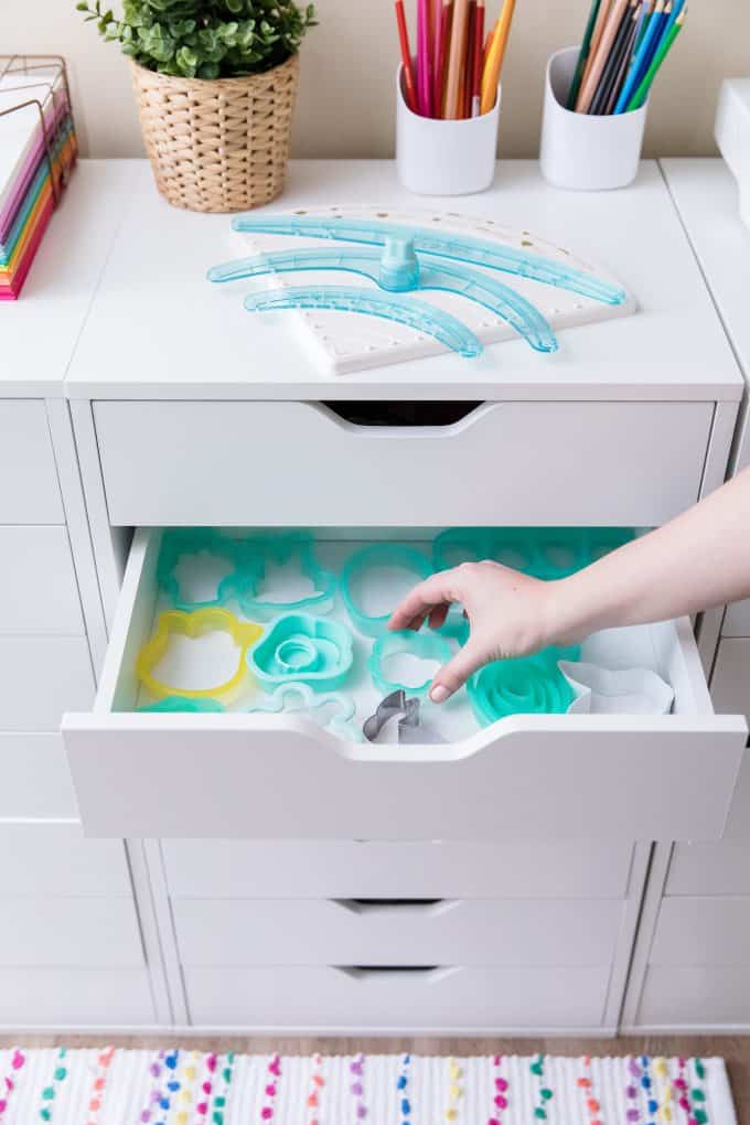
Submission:
{"label": "leafy green plant in a woven wicker basket pot", "polygon": [[283,189],[297,52],[315,24],[293,0],[101,0],[79,11],[129,56],[156,186],[175,207],[246,210]]}

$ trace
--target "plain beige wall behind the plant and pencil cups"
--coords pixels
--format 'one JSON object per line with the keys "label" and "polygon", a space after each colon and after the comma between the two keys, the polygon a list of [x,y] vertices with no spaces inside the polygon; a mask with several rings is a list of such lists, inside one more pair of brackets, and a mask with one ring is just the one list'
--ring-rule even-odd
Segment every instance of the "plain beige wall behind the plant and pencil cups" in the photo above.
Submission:
{"label": "plain beige wall behind the plant and pencil cups", "polygon": [[[499,0],[487,0],[496,12]],[[115,3],[115,7],[117,4]],[[298,156],[389,156],[397,39],[391,0],[317,0],[320,26],[302,45]],[[407,0],[414,10],[414,0]],[[588,0],[518,0],[504,73],[500,152],[535,155],[544,63],[578,40]],[[83,151],[142,153],[125,60],[74,0],[0,0],[0,52],[64,54]],[[749,0],[692,0],[689,20],[651,100],[647,152],[706,155],[722,78],[750,73]]]}

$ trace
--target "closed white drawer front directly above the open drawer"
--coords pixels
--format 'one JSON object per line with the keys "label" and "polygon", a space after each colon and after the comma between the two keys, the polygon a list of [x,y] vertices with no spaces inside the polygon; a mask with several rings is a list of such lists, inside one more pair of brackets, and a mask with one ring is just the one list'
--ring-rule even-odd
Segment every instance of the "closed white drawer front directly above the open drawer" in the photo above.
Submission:
{"label": "closed white drawer front directly above the open drawer", "polygon": [[109,518],[125,525],[295,525],[310,512],[318,525],[653,525],[698,498],[712,415],[708,403],[514,402],[448,426],[372,428],[316,403],[94,404]]}

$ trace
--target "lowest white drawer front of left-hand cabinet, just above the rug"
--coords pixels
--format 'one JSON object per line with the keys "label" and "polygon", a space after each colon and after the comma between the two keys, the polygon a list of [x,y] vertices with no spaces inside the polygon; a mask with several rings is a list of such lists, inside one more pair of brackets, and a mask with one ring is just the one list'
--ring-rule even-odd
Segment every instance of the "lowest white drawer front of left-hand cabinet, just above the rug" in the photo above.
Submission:
{"label": "lowest white drawer front of left-hand cabinet, just above the rug", "polygon": [[0,1027],[153,1024],[145,969],[2,969]]}

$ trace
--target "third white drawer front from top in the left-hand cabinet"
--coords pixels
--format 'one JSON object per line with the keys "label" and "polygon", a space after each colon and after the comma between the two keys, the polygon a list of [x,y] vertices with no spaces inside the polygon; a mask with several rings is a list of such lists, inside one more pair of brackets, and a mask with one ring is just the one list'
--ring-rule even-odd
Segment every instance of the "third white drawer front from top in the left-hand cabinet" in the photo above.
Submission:
{"label": "third white drawer front from top in the left-hand cabinet", "polygon": [[85,637],[0,636],[0,730],[58,730],[94,696]]}

